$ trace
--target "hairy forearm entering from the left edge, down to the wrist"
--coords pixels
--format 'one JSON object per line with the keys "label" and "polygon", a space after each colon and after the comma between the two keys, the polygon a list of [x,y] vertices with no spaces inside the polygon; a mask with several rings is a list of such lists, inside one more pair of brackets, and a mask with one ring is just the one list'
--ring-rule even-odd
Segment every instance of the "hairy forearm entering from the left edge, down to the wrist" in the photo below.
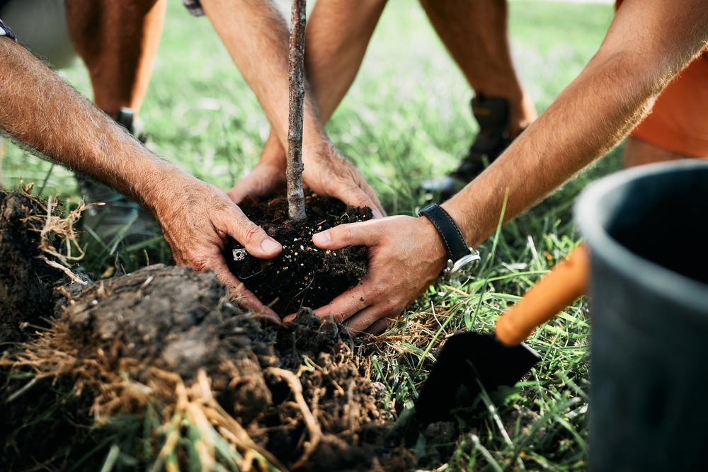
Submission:
{"label": "hairy forearm entering from the left edge, down to the wrist", "polygon": [[0,58],[0,128],[13,139],[148,207],[158,175],[180,172],[20,45],[0,38]]}

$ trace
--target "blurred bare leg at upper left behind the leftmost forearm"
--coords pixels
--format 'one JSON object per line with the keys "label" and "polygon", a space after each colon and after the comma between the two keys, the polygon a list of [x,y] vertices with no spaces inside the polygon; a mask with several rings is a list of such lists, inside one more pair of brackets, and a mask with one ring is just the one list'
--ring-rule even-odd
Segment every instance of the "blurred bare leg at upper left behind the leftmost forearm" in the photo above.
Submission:
{"label": "blurred bare leg at upper left behind the leftmost forearm", "polygon": [[108,115],[142,105],[166,8],[167,0],[67,0],[72,42]]}

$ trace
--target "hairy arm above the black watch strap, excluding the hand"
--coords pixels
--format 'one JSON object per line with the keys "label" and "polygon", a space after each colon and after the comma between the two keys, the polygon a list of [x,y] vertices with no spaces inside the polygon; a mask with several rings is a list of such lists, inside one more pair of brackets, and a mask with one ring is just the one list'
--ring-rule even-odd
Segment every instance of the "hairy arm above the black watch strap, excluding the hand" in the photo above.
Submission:
{"label": "hairy arm above the black watch strap, excluding the hand", "polygon": [[[653,17],[641,18],[652,8],[625,0],[622,8],[631,4],[634,9],[620,9],[623,15],[618,13],[603,47],[581,75],[499,159],[444,205],[470,244],[493,234],[507,189],[505,221],[615,146],[651,108],[671,76],[700,52],[708,22],[704,14],[692,16],[686,10],[704,2],[682,0],[683,10],[682,5],[650,3],[656,7]],[[666,21],[670,13],[662,8],[682,13]],[[682,30],[676,25],[695,28],[696,34],[674,33]]]}

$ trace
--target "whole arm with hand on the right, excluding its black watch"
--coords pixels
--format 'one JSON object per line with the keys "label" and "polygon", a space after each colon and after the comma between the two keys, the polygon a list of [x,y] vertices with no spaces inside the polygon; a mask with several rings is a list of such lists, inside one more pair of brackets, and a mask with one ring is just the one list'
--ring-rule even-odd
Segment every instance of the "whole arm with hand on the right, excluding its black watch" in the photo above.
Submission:
{"label": "whole arm with hand on the right, excluding its black watch", "polygon": [[[580,76],[499,159],[443,205],[467,243],[479,245],[493,234],[507,189],[506,220],[617,144],[707,39],[706,0],[625,0]],[[313,240],[324,249],[369,248],[363,283],[316,310],[337,321],[350,318],[353,332],[382,330],[381,318],[398,316],[438,277],[447,259],[426,218],[342,225]]]}

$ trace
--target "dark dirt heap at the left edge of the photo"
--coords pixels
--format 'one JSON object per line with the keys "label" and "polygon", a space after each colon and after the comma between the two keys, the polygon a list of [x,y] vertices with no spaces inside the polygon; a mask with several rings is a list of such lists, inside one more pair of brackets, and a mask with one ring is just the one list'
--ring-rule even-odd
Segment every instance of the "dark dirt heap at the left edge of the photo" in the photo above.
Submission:
{"label": "dark dirt heap at the left edge of the photo", "polygon": [[[62,298],[55,288],[69,282],[62,270],[40,259],[56,262],[40,250],[47,202],[30,195],[30,189],[31,184],[23,193],[0,190],[0,344],[25,340],[21,326],[47,327],[41,318],[52,316]],[[57,207],[61,202],[52,213]],[[52,245],[59,250],[62,238],[54,236]]]}

